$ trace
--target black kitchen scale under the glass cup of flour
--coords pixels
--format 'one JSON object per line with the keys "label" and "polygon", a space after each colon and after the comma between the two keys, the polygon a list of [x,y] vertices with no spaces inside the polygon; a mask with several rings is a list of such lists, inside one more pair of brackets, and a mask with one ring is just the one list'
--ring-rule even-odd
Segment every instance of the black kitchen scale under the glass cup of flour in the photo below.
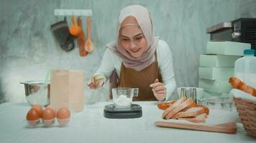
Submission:
{"label": "black kitchen scale under the glass cup of flour", "polygon": [[104,107],[104,117],[109,119],[140,118],[142,117],[142,107],[132,104],[127,108],[116,108],[114,104],[108,104]]}

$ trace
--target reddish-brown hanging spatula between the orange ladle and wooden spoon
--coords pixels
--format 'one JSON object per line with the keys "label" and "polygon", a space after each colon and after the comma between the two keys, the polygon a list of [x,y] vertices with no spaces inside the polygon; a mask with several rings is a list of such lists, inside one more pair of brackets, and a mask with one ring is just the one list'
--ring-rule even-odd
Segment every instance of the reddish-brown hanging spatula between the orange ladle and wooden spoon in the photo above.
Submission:
{"label": "reddish-brown hanging spatula between the orange ladle and wooden spoon", "polygon": [[81,34],[78,35],[78,48],[79,48],[79,53],[80,53],[80,56],[86,56],[87,55],[87,52],[86,52],[86,49],[84,49],[84,46],[86,44],[86,36],[84,35],[83,33],[83,28],[82,28],[82,19],[81,17],[78,17],[78,26],[81,27]]}

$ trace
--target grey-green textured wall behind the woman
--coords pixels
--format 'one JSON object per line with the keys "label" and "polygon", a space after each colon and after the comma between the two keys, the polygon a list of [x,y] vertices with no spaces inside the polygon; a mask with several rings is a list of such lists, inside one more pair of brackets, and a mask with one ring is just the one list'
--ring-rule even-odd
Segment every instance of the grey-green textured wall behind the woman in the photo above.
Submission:
{"label": "grey-green textured wall behind the woman", "polygon": [[[19,82],[45,79],[50,69],[81,69],[87,81],[99,67],[104,45],[115,37],[120,9],[130,4],[150,10],[155,35],[167,41],[173,52],[178,86],[197,86],[199,55],[209,41],[207,27],[239,17],[256,18],[255,0],[1,0],[1,102],[24,102],[24,87]],[[60,49],[50,24],[63,17],[55,17],[54,9],[93,10],[92,54],[80,57],[77,48],[70,52]],[[108,87],[98,91],[85,87],[85,92],[87,101],[106,100]]]}

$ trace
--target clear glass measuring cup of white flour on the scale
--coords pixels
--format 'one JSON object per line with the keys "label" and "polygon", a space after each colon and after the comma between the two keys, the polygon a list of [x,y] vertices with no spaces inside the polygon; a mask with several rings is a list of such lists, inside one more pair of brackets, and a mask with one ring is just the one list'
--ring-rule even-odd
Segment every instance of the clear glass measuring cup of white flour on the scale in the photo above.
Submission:
{"label": "clear glass measuring cup of white flour on the scale", "polygon": [[132,97],[139,94],[138,88],[119,87],[112,89],[113,102],[116,108],[127,108],[132,104]]}

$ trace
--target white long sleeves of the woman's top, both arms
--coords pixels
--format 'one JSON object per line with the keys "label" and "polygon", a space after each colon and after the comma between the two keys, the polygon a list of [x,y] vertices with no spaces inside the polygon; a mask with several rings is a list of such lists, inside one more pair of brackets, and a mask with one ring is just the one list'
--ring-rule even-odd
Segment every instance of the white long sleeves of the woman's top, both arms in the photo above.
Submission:
{"label": "white long sleeves of the woman's top, both arms", "polygon": [[[160,74],[162,76],[163,84],[165,84],[166,87],[166,99],[168,99],[176,88],[176,82],[173,72],[173,57],[168,44],[166,44],[166,42],[161,39],[158,42],[156,51]],[[121,66],[122,59],[119,56],[116,56],[114,52],[106,49],[103,59],[101,61],[101,66],[99,66],[99,69],[94,75],[103,74],[104,82],[106,82],[106,80],[109,79],[112,71],[116,69],[116,74],[120,78]]]}

